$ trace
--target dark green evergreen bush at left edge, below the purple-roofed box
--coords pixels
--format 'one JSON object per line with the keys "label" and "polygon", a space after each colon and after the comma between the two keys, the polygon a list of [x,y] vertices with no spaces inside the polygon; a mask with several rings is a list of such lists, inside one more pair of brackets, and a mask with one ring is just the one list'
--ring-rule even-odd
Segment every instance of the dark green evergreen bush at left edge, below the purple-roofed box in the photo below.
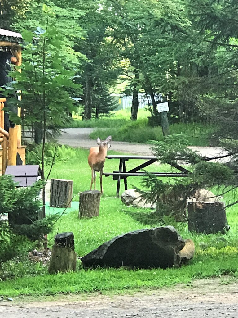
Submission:
{"label": "dark green evergreen bush at left edge, below the purple-roofed box", "polygon": [[[31,241],[43,240],[52,231],[58,215],[40,219],[41,203],[38,198],[42,182],[31,187],[16,188],[11,176],[0,176],[0,268],[3,262],[20,257],[33,247]],[[30,240],[29,240],[30,239]]]}

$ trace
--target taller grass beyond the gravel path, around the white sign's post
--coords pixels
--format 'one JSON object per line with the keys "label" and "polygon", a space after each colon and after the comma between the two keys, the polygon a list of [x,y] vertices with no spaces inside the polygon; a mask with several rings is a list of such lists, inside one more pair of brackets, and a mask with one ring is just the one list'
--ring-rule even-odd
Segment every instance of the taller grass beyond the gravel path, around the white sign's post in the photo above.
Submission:
{"label": "taller grass beyond the gravel path, around the white sign's post", "polygon": [[[139,109],[137,121],[130,121],[129,110],[121,110],[112,112],[110,117],[103,117],[99,120],[92,119],[82,121],[81,118],[75,118],[67,125],[69,128],[97,128],[90,134],[90,138],[96,139],[100,136],[101,139],[106,139],[111,135],[115,141],[147,143],[148,140],[161,141],[163,134],[162,128],[149,127],[148,116],[150,113],[146,110]],[[171,134],[183,132],[187,135],[187,139],[191,146],[209,146],[209,136],[214,132],[215,128],[212,125],[201,123],[171,123],[169,125]]]}

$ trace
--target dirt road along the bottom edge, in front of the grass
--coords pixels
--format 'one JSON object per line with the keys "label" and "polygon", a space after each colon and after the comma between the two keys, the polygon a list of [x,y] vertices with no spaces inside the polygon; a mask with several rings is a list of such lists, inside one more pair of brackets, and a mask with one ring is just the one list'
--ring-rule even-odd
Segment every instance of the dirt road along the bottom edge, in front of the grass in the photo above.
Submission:
{"label": "dirt road along the bottom edge, in front of the grass", "polygon": [[[71,301],[70,301],[71,300]],[[159,289],[133,296],[63,296],[53,302],[0,302],[4,318],[237,318],[238,282],[199,280],[193,286]]]}

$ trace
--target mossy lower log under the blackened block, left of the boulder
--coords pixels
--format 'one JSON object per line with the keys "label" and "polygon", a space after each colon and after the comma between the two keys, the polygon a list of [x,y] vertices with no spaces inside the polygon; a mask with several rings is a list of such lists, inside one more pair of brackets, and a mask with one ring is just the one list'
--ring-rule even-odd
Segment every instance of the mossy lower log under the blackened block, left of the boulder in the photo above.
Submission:
{"label": "mossy lower log under the blackened block, left of the boulder", "polygon": [[70,248],[53,245],[50,257],[49,273],[70,272],[76,270],[76,253]]}

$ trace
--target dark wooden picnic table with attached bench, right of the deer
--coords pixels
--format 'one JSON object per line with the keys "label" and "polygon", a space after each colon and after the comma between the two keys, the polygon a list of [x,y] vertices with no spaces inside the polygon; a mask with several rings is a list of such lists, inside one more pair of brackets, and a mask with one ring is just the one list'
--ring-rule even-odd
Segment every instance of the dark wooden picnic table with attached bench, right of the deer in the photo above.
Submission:
{"label": "dark wooden picnic table with attached bench, right of the deer", "polygon": [[[116,187],[116,195],[117,197],[119,196],[119,191],[120,191],[120,183],[121,180],[124,180],[124,187],[125,190],[127,190],[127,178],[129,176],[147,176],[147,174],[143,171],[139,171],[140,169],[143,169],[150,164],[156,162],[158,160],[157,157],[155,156],[127,156],[127,155],[110,155],[106,156],[107,159],[119,159],[119,168],[118,171],[113,171],[113,172],[103,172],[102,174],[106,177],[112,176],[113,180],[117,180],[117,187]],[[127,171],[126,170],[126,161],[129,160],[148,160],[139,166]],[[191,174],[188,172],[188,170],[183,169],[179,165],[176,165],[176,168],[179,169],[182,172],[150,172],[154,176],[157,177],[188,177],[191,176]]]}

